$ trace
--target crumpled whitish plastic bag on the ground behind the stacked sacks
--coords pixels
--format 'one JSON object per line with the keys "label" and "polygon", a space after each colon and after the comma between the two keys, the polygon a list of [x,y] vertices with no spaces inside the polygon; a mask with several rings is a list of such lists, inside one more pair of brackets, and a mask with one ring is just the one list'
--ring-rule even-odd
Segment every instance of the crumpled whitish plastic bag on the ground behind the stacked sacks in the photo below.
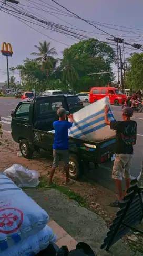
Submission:
{"label": "crumpled whitish plastic bag on the ground behind the stacked sacks", "polygon": [[4,174],[12,179],[18,187],[35,188],[40,182],[38,171],[28,170],[18,164],[13,164],[13,166],[4,171]]}

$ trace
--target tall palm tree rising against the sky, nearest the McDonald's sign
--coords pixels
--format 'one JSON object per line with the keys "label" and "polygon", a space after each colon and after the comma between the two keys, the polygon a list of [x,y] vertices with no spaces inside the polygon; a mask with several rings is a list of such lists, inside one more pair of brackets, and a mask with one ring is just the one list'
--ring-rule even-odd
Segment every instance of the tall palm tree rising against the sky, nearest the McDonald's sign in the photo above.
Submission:
{"label": "tall palm tree rising against the sky, nearest the McDonald's sign", "polygon": [[35,60],[41,63],[41,70],[46,70],[48,72],[53,69],[53,56],[57,55],[56,49],[54,47],[50,48],[50,43],[47,43],[46,40],[39,42],[39,45],[34,45],[39,52],[33,52],[32,55],[38,56]]}

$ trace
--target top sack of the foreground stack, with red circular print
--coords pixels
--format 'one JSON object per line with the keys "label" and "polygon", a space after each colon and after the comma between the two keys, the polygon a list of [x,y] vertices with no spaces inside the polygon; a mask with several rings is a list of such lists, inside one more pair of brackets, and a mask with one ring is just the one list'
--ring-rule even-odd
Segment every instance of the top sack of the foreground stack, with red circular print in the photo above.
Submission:
{"label": "top sack of the foreground stack, with red circular print", "polygon": [[42,230],[49,216],[4,173],[0,173],[0,251]]}

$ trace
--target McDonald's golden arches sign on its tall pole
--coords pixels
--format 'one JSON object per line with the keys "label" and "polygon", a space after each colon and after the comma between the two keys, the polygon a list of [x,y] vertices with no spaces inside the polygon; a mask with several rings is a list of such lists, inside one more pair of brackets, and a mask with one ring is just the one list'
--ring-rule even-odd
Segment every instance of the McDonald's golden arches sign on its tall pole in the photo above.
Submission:
{"label": "McDonald's golden arches sign on its tall pole", "polygon": [[6,43],[4,42],[2,44],[2,49],[1,49],[1,52],[4,56],[6,56],[6,63],[7,63],[7,83],[8,83],[8,89],[10,87],[9,85],[9,68],[8,68],[8,56],[9,57],[12,57],[13,55],[13,50],[12,50],[12,45],[11,43]]}

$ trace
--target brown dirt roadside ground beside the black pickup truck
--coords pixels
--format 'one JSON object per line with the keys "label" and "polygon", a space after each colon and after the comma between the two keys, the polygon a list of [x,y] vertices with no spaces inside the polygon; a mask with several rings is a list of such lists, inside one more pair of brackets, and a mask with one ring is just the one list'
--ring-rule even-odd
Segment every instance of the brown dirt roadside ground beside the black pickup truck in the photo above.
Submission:
{"label": "brown dirt roadside ground beside the black pickup truck", "polygon": [[[53,162],[53,156],[48,152],[40,152],[35,154],[32,159],[25,159],[17,156],[19,146],[12,140],[8,133],[3,134],[4,143],[0,146],[1,167],[0,172],[12,166],[12,164],[22,164],[30,170],[37,170],[41,176],[48,176]],[[54,182],[57,185],[64,184],[65,174],[63,173],[62,163],[57,168]],[[68,187],[71,191],[79,193],[85,197],[87,205],[94,212],[99,214],[109,224],[116,215],[116,208],[110,207],[109,204],[116,198],[116,194],[97,183],[90,182],[86,177],[82,177],[80,181]]]}

